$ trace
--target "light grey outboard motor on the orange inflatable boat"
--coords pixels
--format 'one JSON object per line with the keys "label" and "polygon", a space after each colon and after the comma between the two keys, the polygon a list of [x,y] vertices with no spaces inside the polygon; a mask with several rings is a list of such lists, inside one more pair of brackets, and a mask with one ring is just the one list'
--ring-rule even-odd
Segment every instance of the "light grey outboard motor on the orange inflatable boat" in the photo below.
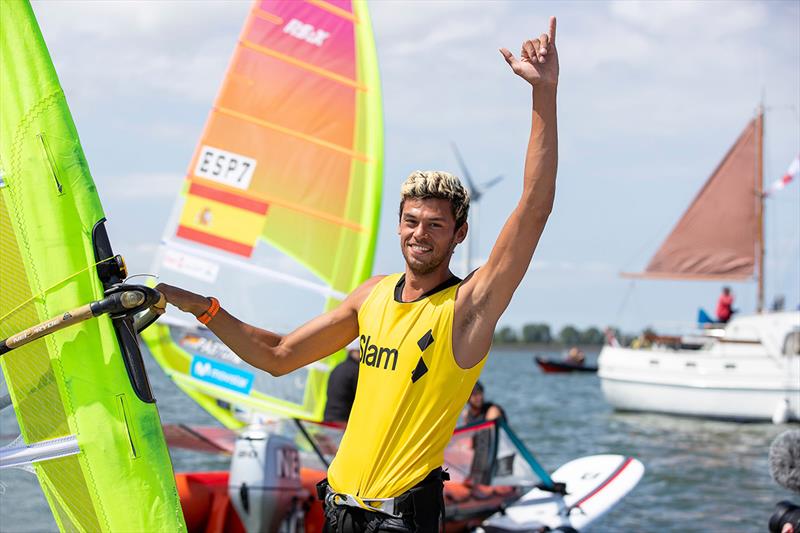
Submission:
{"label": "light grey outboard motor on the orange inflatable boat", "polygon": [[248,533],[302,533],[309,494],[291,440],[250,426],[236,439],[228,494]]}

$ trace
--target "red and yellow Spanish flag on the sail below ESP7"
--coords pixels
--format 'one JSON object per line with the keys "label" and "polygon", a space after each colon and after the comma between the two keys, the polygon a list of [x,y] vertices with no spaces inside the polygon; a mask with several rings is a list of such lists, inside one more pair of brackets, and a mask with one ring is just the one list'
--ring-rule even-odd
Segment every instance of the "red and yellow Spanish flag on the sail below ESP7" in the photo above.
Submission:
{"label": "red and yellow Spanish flag on the sail below ESP7", "polygon": [[253,254],[269,205],[262,199],[193,180],[177,236],[244,257]]}

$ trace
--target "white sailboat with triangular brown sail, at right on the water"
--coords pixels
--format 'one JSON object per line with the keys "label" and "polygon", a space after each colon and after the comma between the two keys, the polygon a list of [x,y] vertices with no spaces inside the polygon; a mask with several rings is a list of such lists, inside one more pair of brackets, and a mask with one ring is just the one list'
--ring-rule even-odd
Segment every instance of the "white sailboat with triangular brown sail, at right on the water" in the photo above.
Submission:
{"label": "white sailboat with triangular brown sail, at right on the water", "polygon": [[800,420],[800,312],[763,312],[764,112],[759,109],[653,256],[644,279],[757,279],[758,309],[692,335],[608,344],[614,408],[706,418]]}

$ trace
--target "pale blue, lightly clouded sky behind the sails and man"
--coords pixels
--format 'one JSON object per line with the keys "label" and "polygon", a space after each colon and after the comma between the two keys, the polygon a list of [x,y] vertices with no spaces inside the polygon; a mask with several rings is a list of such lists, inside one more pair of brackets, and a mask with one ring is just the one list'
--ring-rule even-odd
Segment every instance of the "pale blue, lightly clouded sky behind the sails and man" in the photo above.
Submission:
{"label": "pale blue, lightly clouded sky behind the sails and man", "polygon": [[[151,262],[249,2],[34,2],[129,271]],[[690,323],[722,283],[636,281],[660,242],[766,105],[765,181],[800,152],[800,3],[376,1],[385,113],[375,273],[402,269],[399,186],[416,169],[479,183],[478,261],[522,189],[530,90],[499,47],[558,17],[560,162],[554,211],[500,326],[625,331]],[[800,186],[768,200],[767,302],[800,303]],[[456,258],[455,266],[460,265]],[[458,271],[457,271],[458,273]],[[731,283],[755,308],[755,283]],[[221,296],[221,299],[223,296]],[[311,318],[309,315],[308,318]]]}

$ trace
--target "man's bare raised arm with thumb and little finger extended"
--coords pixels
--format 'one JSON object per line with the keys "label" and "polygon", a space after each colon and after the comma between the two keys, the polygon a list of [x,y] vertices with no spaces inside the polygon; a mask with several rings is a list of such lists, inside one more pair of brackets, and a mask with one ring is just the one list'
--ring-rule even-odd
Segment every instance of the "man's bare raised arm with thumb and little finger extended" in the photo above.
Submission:
{"label": "man's bare raised arm with thumb and little finger extended", "polygon": [[486,264],[461,285],[456,299],[453,348],[463,368],[476,365],[489,349],[497,321],[528,270],[553,208],[558,132],[556,19],[548,33],[525,41],[521,58],[501,49],[514,73],[533,86],[533,117],[525,155],[522,196],[503,226]]}

